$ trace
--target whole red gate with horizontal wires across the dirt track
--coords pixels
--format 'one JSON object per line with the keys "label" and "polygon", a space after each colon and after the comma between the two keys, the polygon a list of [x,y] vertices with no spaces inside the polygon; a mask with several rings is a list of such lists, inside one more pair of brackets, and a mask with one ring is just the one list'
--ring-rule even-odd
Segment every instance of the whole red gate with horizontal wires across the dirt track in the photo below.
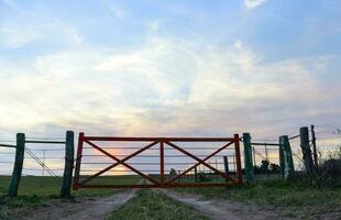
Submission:
{"label": "whole red gate with horizontal wires across the dirt track", "polygon": [[[101,142],[101,144],[95,143]],[[119,155],[114,151],[114,147],[105,147],[102,144],[114,144],[114,143],[144,143],[143,146],[139,147],[121,147],[123,150],[134,150],[130,152],[128,155]],[[201,158],[198,155],[195,155],[189,150],[195,151],[195,147],[182,147],[179,144],[195,144],[195,143],[202,143],[202,144],[219,144],[219,146],[215,147],[196,147],[198,151],[204,151],[206,155],[202,155]],[[88,151],[88,154],[85,154],[85,148]],[[189,148],[189,150],[188,150]],[[136,151],[135,151],[136,150]],[[154,150],[155,153],[153,155],[146,154],[145,156],[148,157],[146,163],[140,162],[139,164],[144,164],[142,167],[147,166],[157,166],[157,169],[154,170],[154,174],[147,174],[142,170],[142,168],[134,167],[134,163],[130,163],[129,161],[144,156],[141,155],[146,151]],[[212,150],[211,152],[206,152],[206,150]],[[218,157],[217,155],[223,152],[224,150],[232,151],[233,153],[233,163],[234,163],[234,172],[221,172],[218,168],[218,163],[216,158],[216,167],[208,161],[212,157]],[[177,155],[169,155],[168,152],[176,152]],[[95,153],[100,153],[95,154]],[[231,154],[231,153],[230,153]],[[85,157],[100,157],[99,160],[92,160],[90,163],[82,162]],[[165,158],[172,157],[172,162],[166,162]],[[106,157],[106,158],[103,158]],[[187,157],[185,160],[191,160],[193,162],[179,163],[180,158]],[[226,157],[226,156],[224,156]],[[151,160],[156,160],[155,163],[152,163]],[[105,160],[107,163],[103,163]],[[142,160],[142,158],[141,158]],[[220,156],[219,156],[220,160]],[[139,162],[139,161],[138,161]],[[191,163],[191,164],[190,164]],[[108,164],[105,168],[97,168],[90,169],[92,173],[89,175],[81,176],[82,165],[91,165],[94,164]],[[138,164],[138,163],[135,163]],[[165,166],[168,164],[176,164],[177,166],[184,165],[185,169],[182,172],[173,170],[173,174],[166,174]],[[114,169],[118,166],[124,167],[125,173],[130,172],[134,175],[138,175],[144,179],[144,183],[141,184],[116,184],[116,183],[101,183],[101,184],[90,184],[91,180],[96,178],[100,178],[105,176],[106,173]],[[198,167],[204,167],[209,170],[211,176],[219,176],[222,178],[223,182],[191,182],[186,180],[182,183],[180,180],[184,177],[190,176],[190,173],[194,170],[197,172]],[[151,173],[151,172],[150,172]],[[197,173],[195,174],[197,175]],[[80,179],[80,176],[82,179]],[[234,178],[232,178],[234,176]],[[117,138],[117,136],[86,136],[84,133],[79,133],[78,140],[78,150],[77,150],[77,157],[76,157],[76,168],[75,168],[75,177],[74,177],[74,185],[73,188],[75,190],[79,188],[172,188],[172,187],[221,187],[221,186],[230,186],[232,184],[242,184],[242,170],[241,170],[241,154],[240,154],[240,138],[239,134],[234,134],[233,138]],[[114,182],[114,180],[113,180]]]}

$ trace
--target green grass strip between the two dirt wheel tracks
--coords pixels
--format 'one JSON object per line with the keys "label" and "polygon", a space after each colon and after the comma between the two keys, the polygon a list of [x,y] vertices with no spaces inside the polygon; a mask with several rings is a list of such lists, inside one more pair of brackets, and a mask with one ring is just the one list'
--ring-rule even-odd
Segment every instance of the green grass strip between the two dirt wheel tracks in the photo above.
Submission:
{"label": "green grass strip between the two dirt wheel tracks", "polygon": [[208,218],[193,207],[176,201],[166,195],[148,189],[138,191],[136,197],[118,210],[111,212],[107,220],[207,220]]}

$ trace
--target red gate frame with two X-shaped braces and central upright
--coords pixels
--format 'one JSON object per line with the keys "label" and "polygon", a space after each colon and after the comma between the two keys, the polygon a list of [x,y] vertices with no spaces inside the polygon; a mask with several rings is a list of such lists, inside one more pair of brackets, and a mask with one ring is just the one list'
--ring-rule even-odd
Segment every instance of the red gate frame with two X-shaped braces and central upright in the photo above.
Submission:
{"label": "red gate frame with two X-shaped braces and central upright", "polygon": [[[134,153],[125,156],[124,158],[118,158],[117,156],[112,155],[111,153],[107,152],[102,147],[94,144],[91,141],[122,141],[122,142],[152,142],[144,147],[141,147],[140,150],[135,151]],[[188,151],[182,148],[180,146],[177,146],[176,144],[172,142],[228,142],[223,146],[216,150],[213,153],[210,153],[205,158],[200,160],[199,157],[195,156],[194,154],[189,153]],[[82,156],[82,147],[84,143],[87,143],[88,145],[92,146],[95,150],[98,150],[102,154],[107,155],[108,157],[112,158],[114,162],[99,170],[98,173],[90,175],[87,179],[79,183],[79,174],[80,174],[80,165],[81,165],[81,156]],[[131,165],[127,164],[125,162],[130,158],[139,155],[140,153],[160,144],[160,179],[158,182],[153,179],[150,175],[143,174],[139,169],[135,169]],[[196,162],[194,162],[194,165],[187,168],[185,172],[176,175],[175,177],[165,180],[165,173],[164,173],[164,146],[168,145],[173,147],[174,150],[177,150],[178,152],[187,155],[188,157],[191,157]],[[206,163],[209,158],[217,155],[221,151],[226,150],[228,146],[234,144],[235,150],[235,163],[237,163],[237,180],[234,183],[194,183],[194,184],[178,184],[174,183],[176,179],[180,178],[182,176],[186,175],[190,170],[195,169],[199,165],[204,165],[208,167],[209,169],[216,172],[220,176],[222,176],[226,179],[230,179],[229,174],[226,174],[223,172],[218,170],[217,168],[212,167],[210,164]],[[143,177],[144,179],[150,180],[153,184],[147,185],[86,185],[86,183],[90,182],[91,179],[100,176],[101,174],[114,168],[118,165],[123,165],[127,168],[129,168],[131,172],[136,173],[139,176]],[[243,175],[242,175],[242,168],[241,168],[241,153],[240,153],[240,138],[239,134],[234,134],[233,138],[118,138],[118,136],[86,136],[84,132],[79,133],[78,138],[78,148],[77,148],[77,157],[76,157],[76,168],[75,168],[75,177],[74,177],[74,184],[73,189],[78,190],[79,188],[175,188],[175,187],[223,187],[223,186],[231,186],[231,185],[242,185],[243,184]]]}

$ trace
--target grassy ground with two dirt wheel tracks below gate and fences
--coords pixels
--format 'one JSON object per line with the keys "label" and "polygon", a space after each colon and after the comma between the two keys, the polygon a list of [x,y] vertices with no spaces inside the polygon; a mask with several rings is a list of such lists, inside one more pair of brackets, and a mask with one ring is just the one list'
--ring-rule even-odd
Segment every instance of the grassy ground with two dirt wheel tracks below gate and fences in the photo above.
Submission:
{"label": "grassy ground with two dirt wheel tracks below gate and fences", "polygon": [[[44,183],[50,187],[44,188]],[[0,219],[341,219],[340,188],[317,189],[282,180],[229,188],[84,189],[72,200],[57,198],[58,187],[53,183],[52,178],[23,178],[21,196],[1,197]],[[0,187],[3,191],[4,185]],[[50,196],[43,196],[46,191]]]}

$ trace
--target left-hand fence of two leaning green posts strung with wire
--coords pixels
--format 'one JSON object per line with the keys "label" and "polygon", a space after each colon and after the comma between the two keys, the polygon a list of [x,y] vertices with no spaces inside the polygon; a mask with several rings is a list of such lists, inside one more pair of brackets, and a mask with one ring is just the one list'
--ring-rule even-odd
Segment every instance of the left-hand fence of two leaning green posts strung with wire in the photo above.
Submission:
{"label": "left-hand fence of two leaning green posts strung with wire", "polygon": [[[51,184],[62,186],[61,196],[70,196],[72,170],[67,172],[66,177],[66,165],[73,167],[74,163],[74,132],[67,131],[64,139],[32,138],[18,133],[16,141],[0,140],[0,164],[6,165],[0,169],[1,191],[7,191],[6,185],[9,184],[8,194],[16,196],[21,177],[34,176],[38,177],[35,183],[37,187],[51,188]],[[53,178],[44,178],[46,176]]]}

